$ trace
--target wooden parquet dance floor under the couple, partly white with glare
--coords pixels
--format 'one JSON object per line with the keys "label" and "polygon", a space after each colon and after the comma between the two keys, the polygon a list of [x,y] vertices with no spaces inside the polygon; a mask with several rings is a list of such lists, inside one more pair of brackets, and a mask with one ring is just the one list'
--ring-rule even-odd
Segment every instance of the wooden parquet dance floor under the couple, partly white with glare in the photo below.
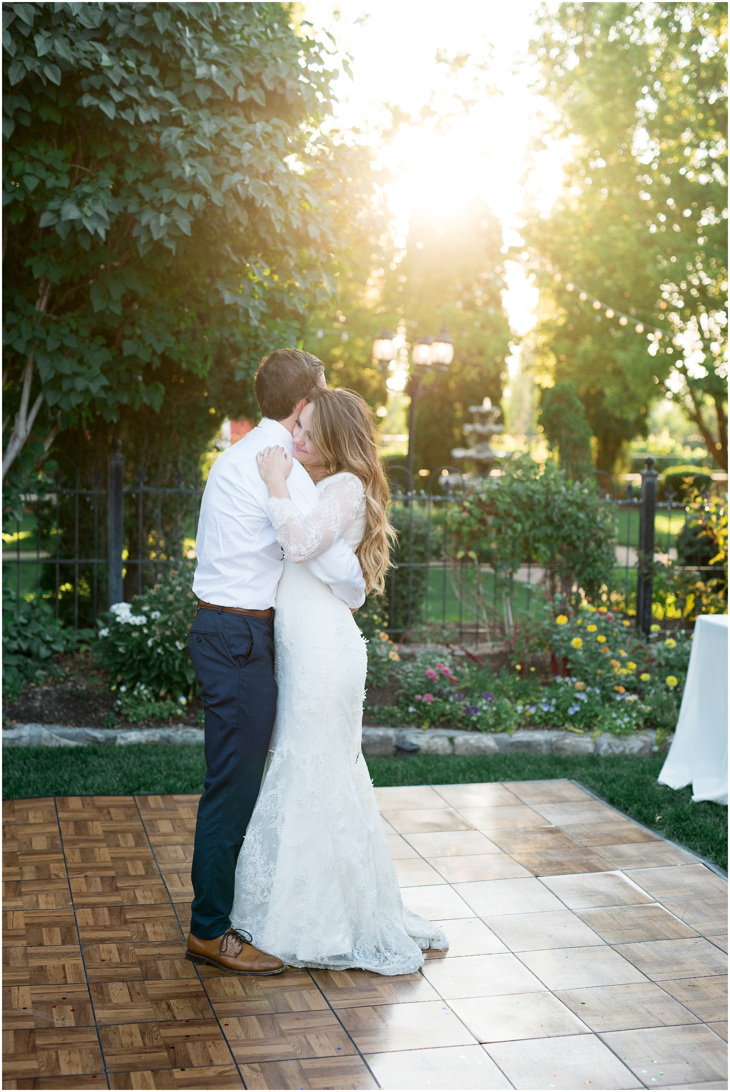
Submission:
{"label": "wooden parquet dance floor under the couple, partly white with glare", "polygon": [[184,959],[195,796],[5,803],[4,1089],[719,1089],[727,883],[569,781],[381,788],[422,972]]}

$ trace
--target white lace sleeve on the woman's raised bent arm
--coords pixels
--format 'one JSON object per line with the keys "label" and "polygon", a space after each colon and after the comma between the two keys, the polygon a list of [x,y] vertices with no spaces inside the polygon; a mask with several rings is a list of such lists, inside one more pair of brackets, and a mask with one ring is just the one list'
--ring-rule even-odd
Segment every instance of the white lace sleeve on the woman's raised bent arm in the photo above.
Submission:
{"label": "white lace sleeve on the woman's raised bent arm", "polygon": [[292,500],[268,498],[268,512],[279,545],[286,557],[297,562],[310,561],[330,549],[364,507],[364,489],[354,474],[343,474],[327,486],[309,515],[302,515]]}

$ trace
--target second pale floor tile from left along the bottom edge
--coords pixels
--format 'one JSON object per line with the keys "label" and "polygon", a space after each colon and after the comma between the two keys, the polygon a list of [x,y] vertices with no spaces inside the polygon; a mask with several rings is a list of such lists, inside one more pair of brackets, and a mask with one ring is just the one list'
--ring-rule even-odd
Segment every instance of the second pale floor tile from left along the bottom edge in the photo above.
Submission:
{"label": "second pale floor tile from left along the bottom edge", "polygon": [[596,1035],[491,1043],[487,1052],[517,1089],[641,1089]]}

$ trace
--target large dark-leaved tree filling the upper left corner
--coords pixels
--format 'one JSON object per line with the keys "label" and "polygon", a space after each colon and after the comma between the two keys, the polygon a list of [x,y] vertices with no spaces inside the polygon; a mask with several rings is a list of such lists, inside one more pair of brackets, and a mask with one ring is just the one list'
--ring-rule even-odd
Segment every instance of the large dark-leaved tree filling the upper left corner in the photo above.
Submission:
{"label": "large dark-leaved tree filling the upper left corner", "polygon": [[253,410],[256,360],[296,343],[372,215],[368,153],[322,131],[326,51],[284,3],[3,19],[3,476],[173,383],[215,410],[223,376]]}

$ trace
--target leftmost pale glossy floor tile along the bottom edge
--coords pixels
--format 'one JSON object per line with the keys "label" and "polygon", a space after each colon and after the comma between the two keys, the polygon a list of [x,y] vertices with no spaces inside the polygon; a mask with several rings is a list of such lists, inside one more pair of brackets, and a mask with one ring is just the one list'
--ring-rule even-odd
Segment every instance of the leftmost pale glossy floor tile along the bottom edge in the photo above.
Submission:
{"label": "leftmost pale glossy floor tile along the bottom edge", "polygon": [[366,1061],[383,1089],[511,1089],[481,1046],[368,1054]]}

